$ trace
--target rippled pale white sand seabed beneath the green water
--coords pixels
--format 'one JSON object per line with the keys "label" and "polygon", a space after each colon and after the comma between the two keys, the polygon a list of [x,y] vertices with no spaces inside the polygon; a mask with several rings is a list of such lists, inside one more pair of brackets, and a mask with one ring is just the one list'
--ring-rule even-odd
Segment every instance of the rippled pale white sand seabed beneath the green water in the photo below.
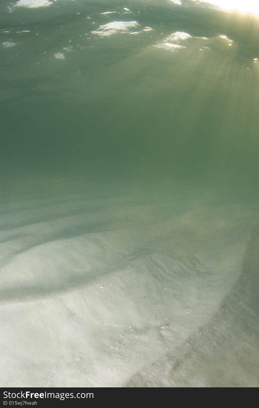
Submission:
{"label": "rippled pale white sand seabed beneath the green water", "polygon": [[0,201],[1,386],[259,386],[253,197],[51,183]]}

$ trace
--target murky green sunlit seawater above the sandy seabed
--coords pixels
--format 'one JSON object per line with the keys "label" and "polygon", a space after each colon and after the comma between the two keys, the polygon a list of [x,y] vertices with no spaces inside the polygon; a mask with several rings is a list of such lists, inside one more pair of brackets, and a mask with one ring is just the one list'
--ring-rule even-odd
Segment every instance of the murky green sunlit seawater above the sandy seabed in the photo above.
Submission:
{"label": "murky green sunlit seawater above the sandy seabed", "polygon": [[[1,40],[16,44],[0,50],[2,171],[256,184],[257,18],[124,7],[2,13]],[[186,48],[154,47],[175,32]]]}

